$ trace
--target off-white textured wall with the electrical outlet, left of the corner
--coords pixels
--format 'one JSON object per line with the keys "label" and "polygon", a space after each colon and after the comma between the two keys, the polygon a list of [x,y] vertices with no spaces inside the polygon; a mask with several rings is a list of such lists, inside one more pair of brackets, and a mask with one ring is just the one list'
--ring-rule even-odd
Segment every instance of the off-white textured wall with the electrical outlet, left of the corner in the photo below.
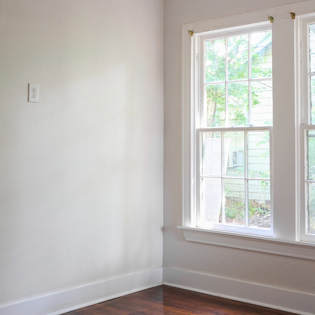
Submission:
{"label": "off-white textured wall with the electrical outlet, left of the corner", "polygon": [[0,306],[162,266],[163,1],[1,0],[0,69]]}

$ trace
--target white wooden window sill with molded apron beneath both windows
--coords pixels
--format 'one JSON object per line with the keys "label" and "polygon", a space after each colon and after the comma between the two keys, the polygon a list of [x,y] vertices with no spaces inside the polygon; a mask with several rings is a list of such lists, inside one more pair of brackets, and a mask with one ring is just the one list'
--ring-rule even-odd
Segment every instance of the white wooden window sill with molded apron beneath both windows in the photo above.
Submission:
{"label": "white wooden window sill with molded apron beneath both windows", "polygon": [[315,243],[207,230],[189,226],[177,226],[177,228],[183,231],[186,241],[315,260]]}

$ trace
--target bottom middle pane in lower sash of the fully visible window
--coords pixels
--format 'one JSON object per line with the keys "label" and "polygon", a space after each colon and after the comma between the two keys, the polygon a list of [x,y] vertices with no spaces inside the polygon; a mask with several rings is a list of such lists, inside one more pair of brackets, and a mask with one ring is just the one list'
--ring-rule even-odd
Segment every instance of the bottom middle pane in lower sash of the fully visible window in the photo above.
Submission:
{"label": "bottom middle pane in lower sash of the fully visible window", "polygon": [[245,180],[225,179],[224,194],[225,223],[245,226]]}

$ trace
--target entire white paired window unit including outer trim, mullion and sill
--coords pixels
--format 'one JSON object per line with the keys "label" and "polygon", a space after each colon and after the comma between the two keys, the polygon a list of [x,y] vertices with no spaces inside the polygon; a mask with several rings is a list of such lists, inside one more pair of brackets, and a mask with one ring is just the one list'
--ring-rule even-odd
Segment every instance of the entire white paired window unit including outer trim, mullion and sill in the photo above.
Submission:
{"label": "entire white paired window unit including outer trim, mullion and sill", "polygon": [[186,240],[315,259],[314,3],[183,26]]}

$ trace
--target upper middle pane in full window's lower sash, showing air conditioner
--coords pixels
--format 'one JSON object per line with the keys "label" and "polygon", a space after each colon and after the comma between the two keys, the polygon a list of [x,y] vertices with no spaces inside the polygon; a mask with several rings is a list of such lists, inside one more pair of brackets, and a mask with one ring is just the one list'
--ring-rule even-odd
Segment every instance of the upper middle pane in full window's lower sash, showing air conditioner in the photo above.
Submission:
{"label": "upper middle pane in full window's lower sash, showing air conditioner", "polygon": [[224,166],[226,176],[245,177],[244,132],[224,133]]}

